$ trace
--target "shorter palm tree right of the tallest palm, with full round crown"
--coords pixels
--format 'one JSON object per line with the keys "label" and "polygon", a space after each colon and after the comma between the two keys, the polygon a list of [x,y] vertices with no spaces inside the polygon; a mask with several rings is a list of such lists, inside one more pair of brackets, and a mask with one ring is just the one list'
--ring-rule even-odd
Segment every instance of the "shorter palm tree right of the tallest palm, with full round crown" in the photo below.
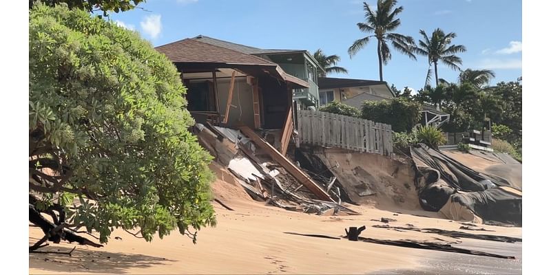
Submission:
{"label": "shorter palm tree right of the tallest palm, with full round crown", "polygon": [[426,74],[426,83],[430,81],[431,70],[430,66],[435,66],[435,80],[436,85],[439,83],[438,78],[438,62],[441,61],[448,67],[459,70],[459,65],[463,63],[459,56],[455,54],[459,52],[465,52],[464,45],[450,45],[452,39],[455,38],[455,32],[445,34],[443,30],[437,28],[430,39],[426,35],[424,30],[419,30],[419,33],[423,36],[423,40],[419,40],[419,46],[413,47],[413,52],[422,56],[428,56],[428,72]]}

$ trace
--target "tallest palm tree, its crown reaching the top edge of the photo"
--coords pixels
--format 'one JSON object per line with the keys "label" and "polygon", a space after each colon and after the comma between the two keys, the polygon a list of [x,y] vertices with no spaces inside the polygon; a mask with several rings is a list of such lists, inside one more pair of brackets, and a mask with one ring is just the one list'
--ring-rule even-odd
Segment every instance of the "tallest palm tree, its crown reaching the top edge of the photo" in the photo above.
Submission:
{"label": "tallest palm tree, its crown reaching the top edge of the photo", "polygon": [[353,55],[367,45],[372,37],[377,39],[379,78],[381,81],[383,81],[383,64],[386,65],[391,60],[391,50],[388,47],[389,42],[398,52],[406,54],[413,60],[417,60],[411,51],[412,45],[415,45],[413,37],[392,32],[400,25],[400,19],[397,18],[397,15],[404,10],[402,6],[393,10],[396,3],[397,0],[378,0],[377,10],[373,12],[369,5],[364,2],[364,17],[366,21],[365,23],[357,23],[357,28],[360,28],[362,32],[373,34],[354,41],[351,47],[349,47],[349,54],[352,58]]}

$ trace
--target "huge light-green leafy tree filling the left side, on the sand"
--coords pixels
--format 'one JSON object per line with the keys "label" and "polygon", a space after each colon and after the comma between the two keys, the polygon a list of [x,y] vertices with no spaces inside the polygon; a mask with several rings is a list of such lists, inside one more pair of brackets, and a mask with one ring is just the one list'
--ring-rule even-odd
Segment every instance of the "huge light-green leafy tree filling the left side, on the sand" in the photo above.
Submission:
{"label": "huge light-green leafy tree filling the left side, on the sand", "polygon": [[213,175],[188,131],[184,94],[176,67],[138,34],[84,10],[34,5],[30,222],[54,241],[90,244],[66,228],[98,232],[101,243],[115,228],[147,241],[178,229],[195,241],[190,230],[216,223]]}

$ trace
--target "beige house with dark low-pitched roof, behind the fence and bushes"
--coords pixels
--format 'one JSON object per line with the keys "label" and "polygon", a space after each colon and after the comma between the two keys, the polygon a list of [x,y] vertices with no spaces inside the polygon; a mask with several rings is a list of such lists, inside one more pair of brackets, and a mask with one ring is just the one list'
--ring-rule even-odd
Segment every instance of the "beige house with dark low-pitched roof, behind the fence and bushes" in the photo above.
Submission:
{"label": "beige house with dark low-pitched roof, behind the fence and bushes", "polygon": [[378,101],[395,97],[392,89],[384,81],[320,77],[318,87],[321,106],[337,101],[361,109],[365,100]]}

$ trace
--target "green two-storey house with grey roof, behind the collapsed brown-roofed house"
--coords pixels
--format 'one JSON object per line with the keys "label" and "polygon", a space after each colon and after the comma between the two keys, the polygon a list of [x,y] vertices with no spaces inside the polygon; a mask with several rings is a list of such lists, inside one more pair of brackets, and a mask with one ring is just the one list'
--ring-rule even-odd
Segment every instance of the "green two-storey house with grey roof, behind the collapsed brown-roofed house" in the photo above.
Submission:
{"label": "green two-storey house with grey roof, behind the collapsed brown-roofed house", "polygon": [[278,64],[285,73],[300,78],[308,83],[309,87],[293,89],[293,101],[297,102],[298,108],[319,107],[320,96],[318,92],[318,72],[325,72],[323,67],[306,50],[276,50],[260,49],[214,39],[209,36],[199,35],[192,38],[194,41],[200,41],[209,45],[223,47],[227,50],[241,52],[251,56],[260,57],[271,63]]}

